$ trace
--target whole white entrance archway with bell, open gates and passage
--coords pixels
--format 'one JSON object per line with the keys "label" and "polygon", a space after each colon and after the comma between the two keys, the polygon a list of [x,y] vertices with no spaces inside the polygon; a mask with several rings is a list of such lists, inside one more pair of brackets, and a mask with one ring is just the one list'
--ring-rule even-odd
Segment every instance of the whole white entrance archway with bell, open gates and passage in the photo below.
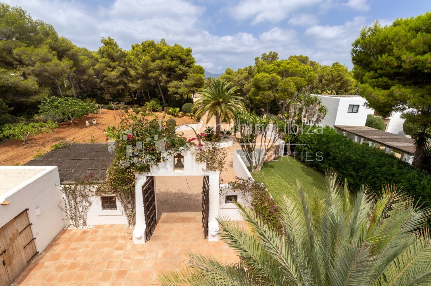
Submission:
{"label": "whole white entrance archway with bell, open gates and passage", "polygon": [[[180,165],[181,157],[184,168],[175,168],[176,163]],[[203,238],[218,240],[219,224],[215,218],[219,214],[219,179],[219,171],[206,171],[205,163],[197,163],[195,154],[185,150],[154,166],[150,172],[138,175],[134,243],[150,240],[164,214],[190,210],[200,212]],[[159,189],[159,183],[164,187]]]}

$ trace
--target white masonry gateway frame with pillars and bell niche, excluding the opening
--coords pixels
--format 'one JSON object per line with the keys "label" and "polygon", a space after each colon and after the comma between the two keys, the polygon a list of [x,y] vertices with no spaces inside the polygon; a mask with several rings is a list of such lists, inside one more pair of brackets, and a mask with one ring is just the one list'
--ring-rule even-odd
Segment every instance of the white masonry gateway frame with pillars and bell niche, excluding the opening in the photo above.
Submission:
{"label": "white masonry gateway frame with pillars and bell niche, excluding the opening", "polygon": [[196,163],[196,154],[190,150],[182,150],[184,156],[184,171],[174,171],[174,155],[169,156],[150,169],[148,173],[136,174],[136,225],[133,230],[133,243],[145,243],[145,214],[144,200],[142,198],[142,185],[148,176],[209,176],[209,211],[208,211],[208,240],[217,241],[219,223],[215,220],[219,214],[219,171],[205,171],[205,163]]}

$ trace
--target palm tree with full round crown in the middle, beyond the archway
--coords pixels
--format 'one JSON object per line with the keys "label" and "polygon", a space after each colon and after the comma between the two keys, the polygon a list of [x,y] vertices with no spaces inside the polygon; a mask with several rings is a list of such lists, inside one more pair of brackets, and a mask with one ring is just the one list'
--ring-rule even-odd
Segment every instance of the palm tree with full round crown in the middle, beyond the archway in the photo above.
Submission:
{"label": "palm tree with full round crown in the middle, beyond the archway", "polygon": [[231,87],[231,82],[226,79],[217,78],[207,84],[205,89],[199,91],[201,98],[192,107],[195,118],[201,118],[208,112],[208,124],[215,115],[215,132],[219,134],[221,121],[226,118],[230,122],[232,116],[243,108],[242,98],[235,93],[237,89],[238,87]]}

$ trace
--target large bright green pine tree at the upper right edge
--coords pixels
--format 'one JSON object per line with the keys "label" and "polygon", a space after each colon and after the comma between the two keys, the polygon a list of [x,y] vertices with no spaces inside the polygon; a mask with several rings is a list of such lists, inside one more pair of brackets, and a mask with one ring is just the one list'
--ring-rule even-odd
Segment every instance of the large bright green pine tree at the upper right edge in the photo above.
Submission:
{"label": "large bright green pine tree at the upper right edge", "polygon": [[[431,12],[364,28],[353,43],[352,62],[361,95],[379,115],[402,111],[423,128],[431,126]],[[425,158],[416,148],[417,168]]]}

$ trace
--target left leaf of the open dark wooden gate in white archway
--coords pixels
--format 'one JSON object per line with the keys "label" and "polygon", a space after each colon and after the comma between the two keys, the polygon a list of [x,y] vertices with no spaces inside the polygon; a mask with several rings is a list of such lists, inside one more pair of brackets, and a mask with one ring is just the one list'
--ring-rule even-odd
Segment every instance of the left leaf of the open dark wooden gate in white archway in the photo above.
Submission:
{"label": "left leaf of the open dark wooden gate in white archway", "polygon": [[157,210],[156,210],[156,189],[154,187],[154,177],[149,176],[142,185],[142,197],[144,198],[145,213],[145,239],[150,240],[156,229]]}

